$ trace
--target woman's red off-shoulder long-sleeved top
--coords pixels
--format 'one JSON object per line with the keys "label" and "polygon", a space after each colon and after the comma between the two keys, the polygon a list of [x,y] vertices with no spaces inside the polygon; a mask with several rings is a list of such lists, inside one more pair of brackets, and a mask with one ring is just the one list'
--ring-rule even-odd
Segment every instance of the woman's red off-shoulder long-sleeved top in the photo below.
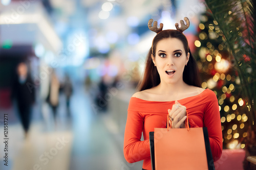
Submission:
{"label": "woman's red off-shoulder long-sleeved top", "polygon": [[[222,153],[222,130],[217,97],[210,89],[178,102],[187,108],[190,128],[207,127],[214,160]],[[127,162],[143,161],[143,169],[151,169],[149,132],[166,128],[168,109],[175,101],[145,101],[132,97],[128,107],[124,132],[124,157]],[[143,139],[141,135],[143,133]],[[195,155],[196,156],[196,155]]]}

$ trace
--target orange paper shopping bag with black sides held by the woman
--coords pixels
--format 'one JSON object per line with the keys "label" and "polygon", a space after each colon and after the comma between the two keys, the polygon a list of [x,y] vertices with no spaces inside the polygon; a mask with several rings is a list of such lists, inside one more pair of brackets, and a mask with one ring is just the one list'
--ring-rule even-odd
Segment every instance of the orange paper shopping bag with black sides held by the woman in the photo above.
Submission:
{"label": "orange paper shopping bag with black sides held by the woman", "polygon": [[171,124],[167,116],[167,128],[150,132],[152,169],[215,169],[207,128],[189,128],[188,118],[186,128],[169,129]]}

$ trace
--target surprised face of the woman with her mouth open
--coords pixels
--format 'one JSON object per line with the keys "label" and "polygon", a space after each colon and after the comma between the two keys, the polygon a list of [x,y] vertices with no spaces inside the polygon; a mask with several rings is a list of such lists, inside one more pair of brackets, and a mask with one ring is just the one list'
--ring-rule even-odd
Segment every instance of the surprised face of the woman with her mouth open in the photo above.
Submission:
{"label": "surprised face of the woman with her mouth open", "polygon": [[183,70],[188,62],[189,53],[177,38],[164,38],[157,43],[156,56],[152,60],[157,67],[161,82],[177,83],[183,81]]}

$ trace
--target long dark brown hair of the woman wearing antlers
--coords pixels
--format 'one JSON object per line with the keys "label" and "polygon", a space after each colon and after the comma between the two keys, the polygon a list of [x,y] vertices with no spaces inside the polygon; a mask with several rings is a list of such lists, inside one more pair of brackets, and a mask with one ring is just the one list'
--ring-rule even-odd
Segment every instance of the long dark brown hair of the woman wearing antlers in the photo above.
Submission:
{"label": "long dark brown hair of the woman wearing antlers", "polygon": [[139,91],[150,89],[160,84],[160,76],[158,74],[157,68],[154,66],[151,55],[156,57],[156,46],[157,43],[164,38],[177,38],[181,40],[184,45],[185,53],[189,52],[189,60],[183,71],[183,81],[188,85],[193,85],[201,87],[201,79],[199,75],[198,66],[196,60],[191,54],[188,42],[184,34],[177,30],[163,30],[158,33],[152,43],[150,51],[148,51],[147,59],[145,63],[144,75],[142,80],[139,82],[137,89]]}

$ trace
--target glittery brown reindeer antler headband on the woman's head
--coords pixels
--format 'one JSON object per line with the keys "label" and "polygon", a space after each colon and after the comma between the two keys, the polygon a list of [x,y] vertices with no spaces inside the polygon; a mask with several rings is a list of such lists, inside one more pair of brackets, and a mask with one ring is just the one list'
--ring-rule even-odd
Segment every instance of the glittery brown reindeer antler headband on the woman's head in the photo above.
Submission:
{"label": "glittery brown reindeer antler headband on the woman's head", "polygon": [[[188,27],[190,25],[189,19],[187,17],[184,17],[184,20],[186,21],[186,25],[183,20],[180,20],[181,27],[179,27],[179,23],[175,23],[175,27],[176,27],[177,31],[179,31],[181,33],[183,31],[185,31],[186,29],[188,29]],[[152,27],[152,22],[153,22],[153,19],[150,19],[148,21],[148,23],[147,23],[148,28],[157,34],[160,33],[163,30],[163,23],[160,23],[160,28],[157,28],[157,21],[154,22],[153,27]],[[153,42],[152,42],[152,53],[153,53]]]}

